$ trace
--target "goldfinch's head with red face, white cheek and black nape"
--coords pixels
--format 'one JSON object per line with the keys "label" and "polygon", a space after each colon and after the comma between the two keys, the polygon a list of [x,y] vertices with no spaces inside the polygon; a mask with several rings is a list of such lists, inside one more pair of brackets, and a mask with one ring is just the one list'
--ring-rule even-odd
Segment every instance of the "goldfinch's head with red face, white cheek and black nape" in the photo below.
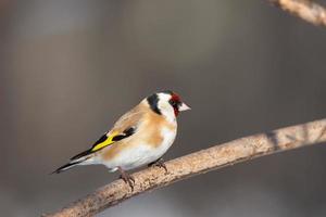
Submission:
{"label": "goldfinch's head with red face, white cheek and black nape", "polygon": [[147,102],[153,112],[167,117],[175,118],[180,112],[190,110],[180,97],[171,90],[155,92],[147,98]]}

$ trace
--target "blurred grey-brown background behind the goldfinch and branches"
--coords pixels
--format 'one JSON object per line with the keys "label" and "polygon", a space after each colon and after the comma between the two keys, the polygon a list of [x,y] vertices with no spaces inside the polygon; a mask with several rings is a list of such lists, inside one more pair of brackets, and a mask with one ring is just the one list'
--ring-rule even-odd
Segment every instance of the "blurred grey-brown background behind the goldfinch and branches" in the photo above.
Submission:
{"label": "blurred grey-brown background behind the goldfinch and branches", "polygon": [[[265,0],[0,2],[1,216],[52,213],[115,180],[103,166],[49,173],[153,91],[192,107],[165,159],[326,117],[326,28]],[[98,216],[324,217],[325,165],[325,145],[279,153]]]}

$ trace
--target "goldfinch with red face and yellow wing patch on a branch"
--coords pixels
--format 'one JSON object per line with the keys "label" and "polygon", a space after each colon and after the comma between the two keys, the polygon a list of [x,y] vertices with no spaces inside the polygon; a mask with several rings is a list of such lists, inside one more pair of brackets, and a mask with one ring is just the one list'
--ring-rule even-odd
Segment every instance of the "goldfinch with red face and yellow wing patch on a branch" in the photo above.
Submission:
{"label": "goldfinch with red face and yellow wing patch on a branch", "polygon": [[163,154],[177,132],[179,112],[190,110],[171,90],[155,92],[124,114],[95,144],[73,156],[55,174],[78,165],[102,164],[110,171],[118,170],[121,178],[134,189],[135,179],[126,173],[143,165],[166,167]]}

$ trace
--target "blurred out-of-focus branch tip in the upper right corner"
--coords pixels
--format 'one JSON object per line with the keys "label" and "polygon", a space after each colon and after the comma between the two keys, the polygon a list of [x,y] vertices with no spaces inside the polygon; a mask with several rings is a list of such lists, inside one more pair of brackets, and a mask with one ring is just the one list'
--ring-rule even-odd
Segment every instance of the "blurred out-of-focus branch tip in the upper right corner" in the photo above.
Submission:
{"label": "blurred out-of-focus branch tip in the upper right corner", "polygon": [[326,9],[312,0],[271,0],[271,2],[311,24],[326,26]]}

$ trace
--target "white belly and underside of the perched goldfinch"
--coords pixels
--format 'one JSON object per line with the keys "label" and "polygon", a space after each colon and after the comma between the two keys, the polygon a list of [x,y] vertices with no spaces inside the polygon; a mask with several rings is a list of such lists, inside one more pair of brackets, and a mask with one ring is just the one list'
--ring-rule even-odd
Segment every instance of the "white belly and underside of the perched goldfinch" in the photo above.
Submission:
{"label": "white belly and underside of the perched goldfinch", "polygon": [[175,140],[176,131],[164,128],[162,130],[163,142],[158,148],[150,144],[134,145],[124,150],[118,156],[105,162],[104,165],[112,171],[118,166],[124,170],[134,169],[159,159],[172,145]]}

